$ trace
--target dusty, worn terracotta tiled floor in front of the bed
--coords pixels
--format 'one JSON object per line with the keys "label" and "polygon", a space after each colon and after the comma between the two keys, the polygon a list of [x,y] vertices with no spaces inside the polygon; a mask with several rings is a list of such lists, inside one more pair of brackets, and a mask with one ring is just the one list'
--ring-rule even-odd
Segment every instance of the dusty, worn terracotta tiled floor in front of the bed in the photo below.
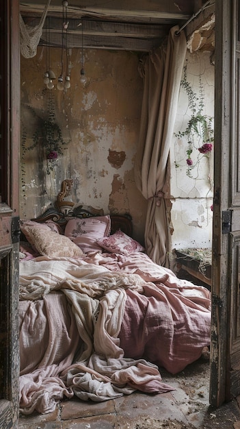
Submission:
{"label": "dusty, worn terracotta tiled floor in front of the bed", "polygon": [[240,398],[209,408],[209,361],[204,355],[164,382],[176,390],[161,395],[135,392],[102,403],[77,398],[58,404],[54,413],[21,416],[18,429],[240,429]]}

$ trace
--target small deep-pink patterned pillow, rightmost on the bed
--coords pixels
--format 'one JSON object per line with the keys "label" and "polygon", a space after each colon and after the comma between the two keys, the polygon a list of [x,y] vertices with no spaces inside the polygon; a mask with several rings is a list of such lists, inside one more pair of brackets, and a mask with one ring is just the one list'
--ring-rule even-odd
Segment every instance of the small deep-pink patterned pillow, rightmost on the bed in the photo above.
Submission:
{"label": "small deep-pink patterned pillow, rightmost on the bed", "polygon": [[97,243],[107,252],[115,254],[130,255],[135,252],[144,252],[145,250],[140,243],[120,230],[109,237],[98,240]]}

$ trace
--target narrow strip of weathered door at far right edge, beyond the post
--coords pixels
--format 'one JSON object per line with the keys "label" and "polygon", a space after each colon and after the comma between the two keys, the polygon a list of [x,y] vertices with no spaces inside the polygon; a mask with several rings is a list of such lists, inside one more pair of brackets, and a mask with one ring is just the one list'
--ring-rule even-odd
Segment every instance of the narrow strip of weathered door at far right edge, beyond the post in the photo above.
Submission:
{"label": "narrow strip of weathered door at far right edge, beyond the post", "polygon": [[230,233],[230,344],[227,361],[227,397],[240,393],[240,1],[232,8],[232,134],[230,139],[230,210],[232,232]]}

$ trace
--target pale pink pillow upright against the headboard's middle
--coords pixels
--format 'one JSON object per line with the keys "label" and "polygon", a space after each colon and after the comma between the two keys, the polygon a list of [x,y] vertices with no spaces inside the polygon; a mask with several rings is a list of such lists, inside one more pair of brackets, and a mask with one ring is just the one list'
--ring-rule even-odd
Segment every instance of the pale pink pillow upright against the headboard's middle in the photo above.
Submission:
{"label": "pale pink pillow upright against the headboard's middle", "polygon": [[84,219],[70,219],[65,227],[64,234],[73,243],[77,244],[84,253],[102,252],[101,246],[96,241],[109,236],[111,230],[110,216],[94,216]]}

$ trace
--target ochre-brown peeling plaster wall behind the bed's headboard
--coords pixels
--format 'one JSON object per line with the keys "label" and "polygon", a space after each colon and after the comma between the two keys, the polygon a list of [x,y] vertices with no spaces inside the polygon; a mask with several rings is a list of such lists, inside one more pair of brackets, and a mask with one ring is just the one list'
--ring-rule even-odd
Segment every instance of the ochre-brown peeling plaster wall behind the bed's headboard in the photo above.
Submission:
{"label": "ochre-brown peeling plaster wall behind the bed's headboard", "polygon": [[[69,60],[71,86],[59,91],[47,90],[43,82],[48,68],[45,47],[38,47],[34,58],[21,57],[21,129],[26,147],[38,124],[27,105],[44,116],[49,93],[56,121],[69,142],[50,174],[40,146],[25,151],[21,217],[36,217],[53,206],[62,180],[72,178],[72,201],[103,208],[105,213],[130,213],[134,236],[144,243],[146,200],[135,186],[133,171],[143,89],[137,54],[85,50],[85,86],[80,82],[81,50],[72,49]],[[60,75],[60,49],[51,49],[51,69]]]}

